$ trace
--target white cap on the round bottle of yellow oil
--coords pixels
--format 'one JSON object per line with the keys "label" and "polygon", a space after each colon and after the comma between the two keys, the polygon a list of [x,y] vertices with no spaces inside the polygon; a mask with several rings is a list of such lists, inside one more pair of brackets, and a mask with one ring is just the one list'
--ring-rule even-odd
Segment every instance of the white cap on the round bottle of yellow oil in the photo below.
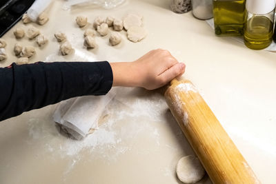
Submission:
{"label": "white cap on the round bottle of yellow oil", "polygon": [[252,14],[267,14],[274,8],[275,0],[246,0],[246,10]]}

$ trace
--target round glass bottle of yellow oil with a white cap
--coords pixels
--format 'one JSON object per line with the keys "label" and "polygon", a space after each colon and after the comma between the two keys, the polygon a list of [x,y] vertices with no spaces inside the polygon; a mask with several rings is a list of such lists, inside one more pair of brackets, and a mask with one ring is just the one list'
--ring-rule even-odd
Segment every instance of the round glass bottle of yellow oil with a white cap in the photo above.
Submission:
{"label": "round glass bottle of yellow oil with a white cap", "polygon": [[247,0],[244,44],[254,50],[267,48],[273,40],[275,0]]}

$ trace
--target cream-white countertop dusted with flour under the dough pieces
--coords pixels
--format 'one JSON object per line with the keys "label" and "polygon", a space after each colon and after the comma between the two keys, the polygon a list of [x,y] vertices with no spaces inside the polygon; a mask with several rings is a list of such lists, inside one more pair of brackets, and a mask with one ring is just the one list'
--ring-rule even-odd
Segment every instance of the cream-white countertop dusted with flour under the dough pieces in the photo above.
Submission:
{"label": "cream-white countertop dusted with flour under the dough pieces", "polygon": [[[276,59],[275,53],[249,50],[242,43],[216,37],[205,21],[189,12],[175,14],[169,1],[130,1],[113,10],[79,8],[62,10],[55,1],[50,21],[34,25],[50,42],[37,48],[35,61],[133,61],[149,50],[164,48],[186,63],[184,78],[204,96],[221,125],[233,139],[260,181],[275,183],[276,173]],[[121,18],[128,12],[144,16],[148,37],[131,43],[108,45],[97,37],[99,48],[83,48],[83,29],[75,17],[88,21],[101,15]],[[10,65],[14,28],[3,36],[8,42]],[[53,34],[66,32],[75,54],[62,57]],[[121,32],[126,34],[126,32]],[[23,45],[35,45],[24,38]],[[157,91],[114,88],[117,96],[101,117],[104,125],[84,141],[72,141],[52,121],[55,105],[23,113],[0,123],[0,183],[180,183],[175,165],[193,154],[190,145]],[[211,135],[210,135],[211,136]],[[206,176],[200,183],[210,183]]]}

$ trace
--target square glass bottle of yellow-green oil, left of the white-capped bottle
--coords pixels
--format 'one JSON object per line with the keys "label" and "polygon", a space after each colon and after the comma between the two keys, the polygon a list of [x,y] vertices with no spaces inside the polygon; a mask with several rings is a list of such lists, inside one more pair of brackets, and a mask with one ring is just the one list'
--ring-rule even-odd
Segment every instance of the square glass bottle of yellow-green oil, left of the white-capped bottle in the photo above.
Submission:
{"label": "square glass bottle of yellow-green oil, left of the white-capped bottle", "polygon": [[246,0],[213,0],[215,34],[242,36],[246,21]]}

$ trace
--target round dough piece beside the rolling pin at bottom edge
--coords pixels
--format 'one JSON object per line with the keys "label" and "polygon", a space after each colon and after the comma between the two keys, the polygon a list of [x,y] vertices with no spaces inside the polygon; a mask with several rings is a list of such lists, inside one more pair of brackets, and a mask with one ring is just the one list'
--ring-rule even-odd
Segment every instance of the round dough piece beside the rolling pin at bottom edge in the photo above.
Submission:
{"label": "round dough piece beside the rolling pin at bottom edge", "polygon": [[193,155],[184,156],[177,163],[177,177],[184,183],[197,183],[204,174],[204,167]]}

